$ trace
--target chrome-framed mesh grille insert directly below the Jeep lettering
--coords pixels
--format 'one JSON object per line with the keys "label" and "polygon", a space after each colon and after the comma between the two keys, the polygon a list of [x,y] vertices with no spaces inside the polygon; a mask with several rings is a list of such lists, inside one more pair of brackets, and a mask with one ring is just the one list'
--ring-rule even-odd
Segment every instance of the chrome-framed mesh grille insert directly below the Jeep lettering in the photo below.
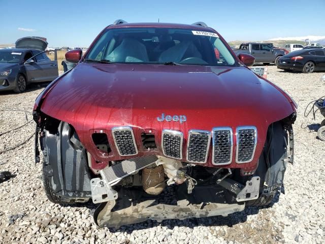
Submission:
{"label": "chrome-framed mesh grille insert directly below the Jeep lettering", "polygon": [[165,156],[182,159],[183,133],[180,131],[163,130],[161,147]]}

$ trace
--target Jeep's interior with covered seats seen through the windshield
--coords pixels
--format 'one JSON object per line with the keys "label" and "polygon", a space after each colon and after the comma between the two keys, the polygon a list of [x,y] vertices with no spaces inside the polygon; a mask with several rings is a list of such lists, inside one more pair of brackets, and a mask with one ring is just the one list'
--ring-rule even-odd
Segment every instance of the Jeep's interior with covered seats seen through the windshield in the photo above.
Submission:
{"label": "Jeep's interior with covered seats seen through the windshield", "polygon": [[[215,39],[168,30],[116,33],[94,46],[88,58],[117,63],[180,63],[197,65],[229,64]],[[221,43],[222,44],[222,43]],[[223,44],[222,44],[223,45]],[[231,55],[231,54],[229,54]]]}

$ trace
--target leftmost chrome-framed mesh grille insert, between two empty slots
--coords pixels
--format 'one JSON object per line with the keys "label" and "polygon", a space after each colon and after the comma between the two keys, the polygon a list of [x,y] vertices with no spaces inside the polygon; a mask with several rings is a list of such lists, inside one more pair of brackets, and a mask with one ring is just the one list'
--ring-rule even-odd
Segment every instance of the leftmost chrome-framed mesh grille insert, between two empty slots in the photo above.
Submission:
{"label": "leftmost chrome-framed mesh grille insert, between two empty slots", "polygon": [[112,128],[114,143],[120,156],[132,156],[138,154],[136,141],[131,127]]}

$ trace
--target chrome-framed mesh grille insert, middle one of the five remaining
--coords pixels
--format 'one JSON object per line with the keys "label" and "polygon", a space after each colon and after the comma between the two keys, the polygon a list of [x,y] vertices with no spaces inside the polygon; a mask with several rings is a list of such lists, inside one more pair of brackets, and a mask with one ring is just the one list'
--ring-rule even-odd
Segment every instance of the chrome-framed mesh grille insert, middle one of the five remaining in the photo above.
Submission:
{"label": "chrome-framed mesh grille insert, middle one of the five remaining", "polygon": [[190,130],[186,158],[191,163],[206,163],[210,147],[210,131]]}

